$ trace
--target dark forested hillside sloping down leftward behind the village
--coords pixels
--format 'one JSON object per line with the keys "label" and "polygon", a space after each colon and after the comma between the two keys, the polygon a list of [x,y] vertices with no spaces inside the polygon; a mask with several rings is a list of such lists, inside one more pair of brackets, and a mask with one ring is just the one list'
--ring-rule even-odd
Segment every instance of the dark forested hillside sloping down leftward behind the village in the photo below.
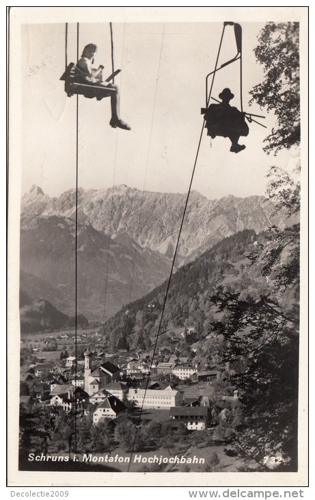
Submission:
{"label": "dark forested hillside sloping down leftward behind the village", "polygon": [[[249,286],[253,290],[269,290],[270,284],[266,278],[251,266],[247,258],[255,251],[256,240],[256,233],[245,229],[224,238],[200,258],[182,266],[172,275],[159,345],[163,344],[163,340],[167,343],[167,337],[163,338],[165,332],[178,327],[195,330],[190,344],[205,338],[213,319],[213,306],[209,297],[220,284],[233,290],[243,290]],[[113,351],[117,348],[149,349],[152,346],[159,329],[166,288],[167,282],[164,282],[107,321],[105,332]],[[182,346],[182,350],[186,348]]]}

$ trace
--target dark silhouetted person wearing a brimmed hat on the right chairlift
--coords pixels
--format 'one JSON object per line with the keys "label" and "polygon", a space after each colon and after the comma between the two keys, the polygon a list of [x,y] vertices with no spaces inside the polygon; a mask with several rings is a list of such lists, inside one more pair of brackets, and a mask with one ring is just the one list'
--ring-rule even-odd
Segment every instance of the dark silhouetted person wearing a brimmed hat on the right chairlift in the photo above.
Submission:
{"label": "dark silhouetted person wearing a brimmed hat on the right chairlift", "polygon": [[245,145],[238,144],[240,136],[247,136],[249,128],[245,122],[245,113],[237,108],[230,106],[230,100],[233,99],[230,88],[224,88],[219,94],[221,103],[210,104],[204,114],[206,121],[205,127],[208,129],[208,136],[213,139],[216,136],[228,137],[232,142],[230,151],[239,153],[245,149]]}

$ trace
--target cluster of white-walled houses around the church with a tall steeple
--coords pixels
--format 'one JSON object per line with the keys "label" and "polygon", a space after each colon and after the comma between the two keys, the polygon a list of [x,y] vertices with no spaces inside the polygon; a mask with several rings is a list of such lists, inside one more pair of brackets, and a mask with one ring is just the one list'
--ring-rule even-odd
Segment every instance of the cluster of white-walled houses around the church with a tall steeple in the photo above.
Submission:
{"label": "cluster of white-walled houses around the church with a tall steeple", "polygon": [[[31,370],[21,373],[21,382],[34,379],[35,386],[36,383],[49,384],[49,398],[43,403],[66,412],[90,412],[94,425],[121,418],[128,413],[129,408],[138,407],[167,410],[165,420],[169,419],[174,426],[184,423],[191,430],[204,429],[208,425],[209,397],[196,395],[185,399],[182,391],[163,380],[161,382],[159,377],[155,381],[150,377],[149,381],[148,373],[169,375],[169,379],[174,375],[183,384],[187,379],[210,382],[219,379],[221,374],[219,368],[200,371],[197,364],[189,364],[188,358],[175,356],[160,363],[152,363],[148,356],[131,358],[119,367],[111,360],[97,359],[90,349],[84,353],[84,367],[74,356],[64,360],[62,366],[64,370],[58,371],[54,364],[36,364]],[[21,404],[31,405],[31,397],[21,398]]]}

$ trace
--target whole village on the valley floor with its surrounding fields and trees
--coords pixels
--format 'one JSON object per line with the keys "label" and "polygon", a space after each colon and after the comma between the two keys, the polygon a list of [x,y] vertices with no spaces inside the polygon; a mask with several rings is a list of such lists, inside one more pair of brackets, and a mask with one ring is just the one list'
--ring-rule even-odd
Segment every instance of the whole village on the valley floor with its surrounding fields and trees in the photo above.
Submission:
{"label": "whole village on the valley floor with its surrounding fields and trees", "polygon": [[[115,454],[117,449],[128,456],[135,449],[146,452],[144,463],[158,454],[167,457],[165,462],[169,457],[185,456],[182,461],[189,463],[190,456],[197,457],[191,465],[195,471],[231,466],[222,443],[226,444],[226,436],[232,432],[229,431],[231,416],[235,419],[238,413],[238,390],[232,382],[235,373],[228,365],[194,361],[193,349],[189,355],[176,355],[184,338],[193,335],[193,328],[176,329],[176,333],[172,332],[167,338],[168,345],[159,347],[155,353],[153,348],[120,349],[115,355],[107,352],[107,342],[95,330],[77,334],[77,356],[74,355],[73,333],[38,334],[39,337],[33,336],[37,341],[32,343],[28,335],[21,344],[21,418],[23,420],[23,412],[34,414],[40,410],[50,422],[45,427],[45,418],[41,419],[38,453],[44,450],[45,457],[55,455],[54,460],[58,457],[60,460],[62,455],[71,457],[77,452],[81,460],[85,452],[93,449],[96,457]],[[40,347],[33,347],[35,345]],[[81,450],[78,446],[74,449],[68,442],[71,432],[66,427],[65,433],[69,436],[63,436],[64,446],[59,443],[54,447],[57,425],[67,418],[69,421],[76,418],[78,429],[89,427],[90,436],[94,428],[98,446],[90,443],[82,447],[81,443]],[[107,438],[102,441],[104,428]],[[129,436],[125,435],[126,429],[130,431]],[[213,448],[210,455],[208,447]],[[218,451],[223,456],[222,463]],[[25,460],[29,451],[24,453]],[[135,470],[142,470],[141,466],[143,468],[143,463],[137,464]],[[146,470],[148,466],[144,467]],[[148,470],[162,470],[161,467],[163,464],[153,464]],[[170,466],[167,467],[170,470]],[[187,469],[187,463],[171,468],[183,470],[183,467]]]}

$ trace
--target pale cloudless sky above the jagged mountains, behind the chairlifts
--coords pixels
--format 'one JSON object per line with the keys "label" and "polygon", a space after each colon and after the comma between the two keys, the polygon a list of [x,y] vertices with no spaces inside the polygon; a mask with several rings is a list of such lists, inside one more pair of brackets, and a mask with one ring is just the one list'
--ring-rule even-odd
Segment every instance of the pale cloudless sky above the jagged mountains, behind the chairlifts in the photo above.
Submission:
{"label": "pale cloudless sky above the jagged mountains, behind the chairlifts", "polygon": [[[252,123],[240,139],[246,149],[230,153],[228,138],[210,140],[206,129],[192,189],[208,199],[262,195],[269,166],[286,168],[290,153],[266,155],[263,140],[275,118],[251,105],[249,90],[262,81],[254,47],[264,23],[242,23],[243,108],[264,114],[267,129]],[[223,23],[113,23],[115,78],[121,116],[131,131],[109,127],[110,99],[79,97],[79,186],[187,192],[202,132],[205,77],[215,67]],[[22,26],[22,194],[33,184],[59,196],[76,182],[77,99],[64,92],[65,24]],[[95,66],[111,74],[109,23],[80,23],[79,52],[98,46]],[[219,65],[236,55],[234,30],[225,29]],[[68,63],[77,60],[77,25],[68,25]],[[240,107],[239,64],[215,78],[213,97],[229,87]],[[213,101],[214,102],[214,101]]]}

